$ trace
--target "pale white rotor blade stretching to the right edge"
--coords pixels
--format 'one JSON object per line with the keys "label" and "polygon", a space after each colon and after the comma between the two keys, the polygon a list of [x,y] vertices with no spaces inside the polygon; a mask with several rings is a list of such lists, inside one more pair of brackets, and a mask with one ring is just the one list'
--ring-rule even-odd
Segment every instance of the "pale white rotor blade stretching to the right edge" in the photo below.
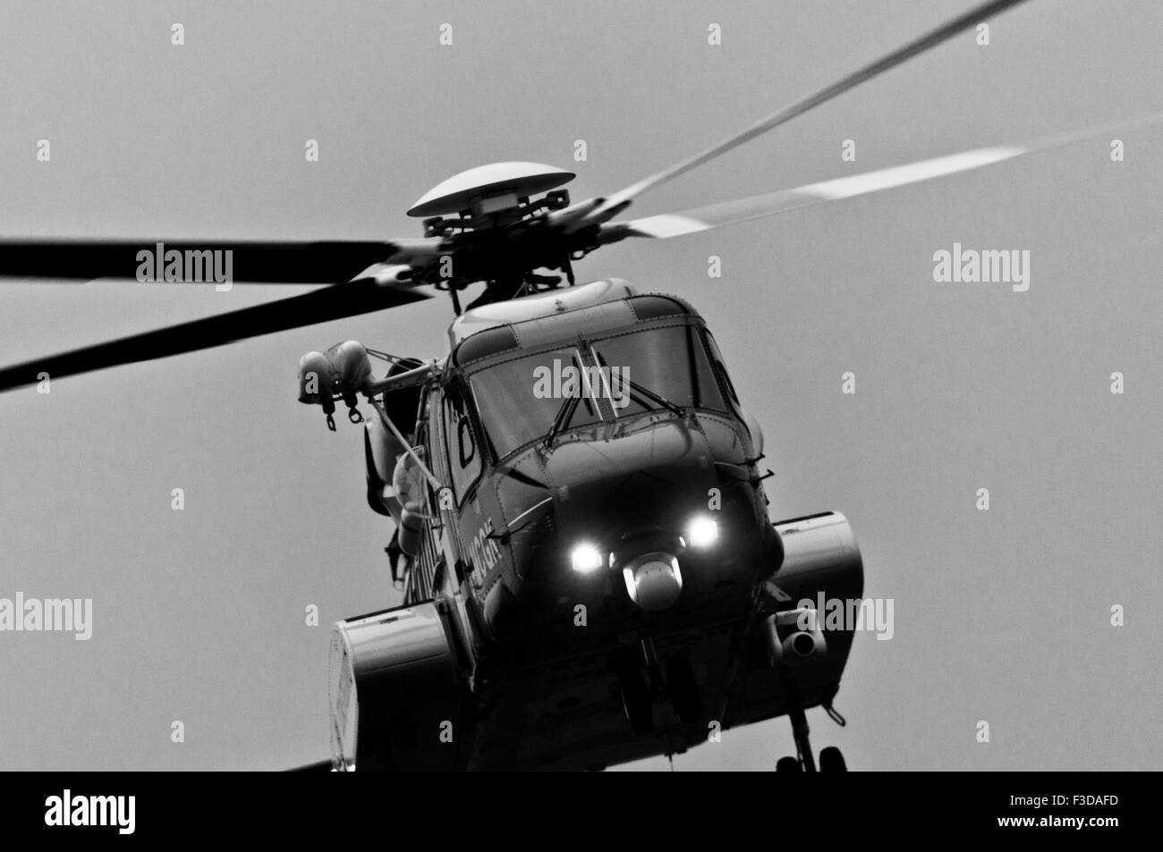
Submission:
{"label": "pale white rotor blade stretching to the right edge", "polygon": [[851,174],[834,180],[825,180],[819,184],[807,184],[794,189],[780,189],[765,195],[752,195],[734,201],[723,201],[679,213],[664,213],[657,216],[635,219],[629,222],[611,222],[601,227],[598,242],[602,244],[613,243],[625,237],[666,239],[669,237],[683,236],[684,234],[695,234],[727,224],[748,222],[752,219],[773,216],[778,213],[786,213],[787,210],[807,207],[821,201],[840,201],[842,199],[856,198],[857,195],[880,192],[882,189],[919,184],[923,180],[932,180],[933,178],[941,178],[948,174],[968,172],[1027,153],[1061,148],[1062,145],[1082,142],[1083,139],[1099,138],[1112,131],[1125,133],[1127,130],[1135,130],[1160,122],[1163,122],[1163,113],[1146,115],[1130,121],[1104,124],[1101,127],[1086,128],[1084,130],[1042,136],[1027,142],[977,148],[946,157],[918,160],[916,163],[880,169],[875,172]]}

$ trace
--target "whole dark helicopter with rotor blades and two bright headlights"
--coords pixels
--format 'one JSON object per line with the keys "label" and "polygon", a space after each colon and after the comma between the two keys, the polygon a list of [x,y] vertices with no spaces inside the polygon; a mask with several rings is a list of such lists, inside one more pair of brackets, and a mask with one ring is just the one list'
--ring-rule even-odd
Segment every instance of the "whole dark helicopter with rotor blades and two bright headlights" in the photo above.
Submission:
{"label": "whole dark helicopter with rotor blades and two bright headlights", "polygon": [[[388,557],[402,563],[406,594],[404,607],[336,628],[330,765],[598,768],[678,753],[716,724],[787,715],[800,752],[792,762],[814,768],[804,711],[832,709],[851,633],[821,630],[797,601],[861,595],[851,528],[834,513],[768,523],[762,434],[701,317],[616,279],[578,285],[572,265],[630,237],[680,236],[1096,135],[615,221],[649,188],[1013,5],[986,3],[606,198],[571,203],[568,172],[495,164],[414,205],[421,239],[166,242],[166,277],[170,252],[184,263],[230,251],[236,280],[334,286],[29,361],[0,380],[164,357],[447,291],[457,318],[443,358],[345,342],[300,363],[300,401],[329,424],[338,402],[358,422],[359,398],[372,406],[369,503],[393,520]],[[0,271],[124,277],[143,244],[6,243]],[[459,294],[480,282],[485,293],[462,310]],[[391,364],[386,375],[373,378],[369,356]],[[826,750],[820,762],[842,761]]]}

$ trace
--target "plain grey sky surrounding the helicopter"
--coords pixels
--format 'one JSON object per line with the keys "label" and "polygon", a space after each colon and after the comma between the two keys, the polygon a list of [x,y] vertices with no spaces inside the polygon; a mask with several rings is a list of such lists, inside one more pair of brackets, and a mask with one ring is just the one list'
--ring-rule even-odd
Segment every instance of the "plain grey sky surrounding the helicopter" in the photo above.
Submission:
{"label": "plain grey sky surrounding the helicopter", "polygon": [[[575,169],[584,198],[970,5],[9,0],[0,234],[411,236],[404,210],[427,188],[499,159]],[[1157,2],[1035,0],[991,22],[989,46],[964,35],[635,210],[1163,109],[1161,37]],[[857,637],[836,700],[848,726],[809,714],[816,747],[852,768],[1163,764],[1163,131],[1125,143],[1123,163],[1084,143],[579,264],[701,310],[765,430],[772,517],[843,511],[865,594],[894,599],[893,639]],[[1029,250],[1029,291],[935,284],[933,255],[955,242]],[[5,364],[305,289],[0,287]],[[329,624],[398,595],[361,431],[331,435],[300,406],[295,366],[348,338],[438,355],[450,316],[434,300],[0,395],[0,596],[92,597],[94,613],[88,642],[0,633],[0,767],[327,756]],[[676,768],[771,768],[787,729],[728,731]]]}

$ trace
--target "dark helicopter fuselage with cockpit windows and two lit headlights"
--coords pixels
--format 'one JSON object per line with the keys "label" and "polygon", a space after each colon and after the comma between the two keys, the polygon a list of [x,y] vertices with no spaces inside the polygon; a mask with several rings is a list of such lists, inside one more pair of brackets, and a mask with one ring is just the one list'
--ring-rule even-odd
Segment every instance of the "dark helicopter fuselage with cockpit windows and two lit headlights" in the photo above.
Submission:
{"label": "dark helicopter fuselage with cockpit windows and two lit headlights", "polygon": [[[336,668],[355,686],[341,683],[336,700],[358,711],[336,728],[352,715],[366,728],[376,713],[380,745],[340,735],[336,764],[431,767],[401,745],[407,729],[420,743],[445,737],[431,739],[435,766],[592,768],[778,715],[789,701],[778,682],[759,708],[748,690],[752,670],[770,675],[759,628],[777,607],[764,583],[784,545],[768,520],[758,427],[702,318],[611,280],[470,310],[450,336],[409,424],[442,487],[424,488],[420,528],[401,538],[405,606],[337,625]],[[404,681],[386,673],[415,660],[383,649],[419,646],[415,631],[437,625],[445,652],[424,659],[448,676],[404,701]],[[802,706],[830,700],[850,639],[837,633],[800,679]],[[369,686],[371,671],[392,685]],[[370,710],[378,692],[397,697]]]}

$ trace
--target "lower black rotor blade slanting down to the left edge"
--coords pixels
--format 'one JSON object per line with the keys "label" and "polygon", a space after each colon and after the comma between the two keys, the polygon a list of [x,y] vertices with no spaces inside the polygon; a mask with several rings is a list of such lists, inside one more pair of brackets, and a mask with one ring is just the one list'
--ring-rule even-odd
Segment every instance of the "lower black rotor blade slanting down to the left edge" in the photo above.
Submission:
{"label": "lower black rotor blade slanting down to the left edge", "polygon": [[[404,272],[409,267],[397,269]],[[379,280],[384,280],[384,277],[380,275]],[[51,379],[76,375],[121,364],[211,349],[248,337],[368,314],[427,298],[423,293],[408,289],[406,281],[393,287],[384,286],[377,279],[361,279],[321,287],[290,299],[278,299],[0,368],[0,391],[36,382],[42,372],[48,373]]]}

